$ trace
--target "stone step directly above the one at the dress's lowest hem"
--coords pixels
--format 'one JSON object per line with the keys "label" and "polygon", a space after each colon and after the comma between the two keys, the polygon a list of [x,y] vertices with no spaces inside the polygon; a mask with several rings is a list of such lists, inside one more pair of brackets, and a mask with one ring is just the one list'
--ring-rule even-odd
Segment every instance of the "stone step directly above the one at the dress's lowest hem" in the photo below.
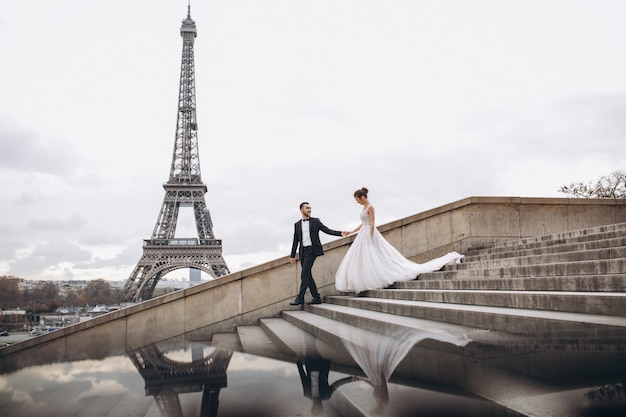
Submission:
{"label": "stone step directly above the one at the dress's lowest hem", "polygon": [[421,279],[420,277],[420,279],[413,281],[396,282],[393,285],[393,288],[433,290],[626,292],[626,274],[446,280]]}

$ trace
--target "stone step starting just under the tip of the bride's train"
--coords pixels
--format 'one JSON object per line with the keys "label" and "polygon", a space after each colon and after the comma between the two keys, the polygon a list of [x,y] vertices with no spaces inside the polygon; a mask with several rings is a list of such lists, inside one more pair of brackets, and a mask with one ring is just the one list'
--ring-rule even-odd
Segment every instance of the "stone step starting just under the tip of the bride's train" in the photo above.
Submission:
{"label": "stone step starting just under the tip of the bride's train", "polygon": [[[626,242],[626,239],[624,239]],[[626,246],[612,246],[600,249],[580,249],[577,251],[562,251],[556,253],[541,253],[521,256],[490,256],[465,257],[463,263],[450,265],[446,270],[464,270],[470,268],[494,268],[508,266],[525,266],[537,264],[565,263],[577,261],[596,261],[605,259],[626,258]]]}

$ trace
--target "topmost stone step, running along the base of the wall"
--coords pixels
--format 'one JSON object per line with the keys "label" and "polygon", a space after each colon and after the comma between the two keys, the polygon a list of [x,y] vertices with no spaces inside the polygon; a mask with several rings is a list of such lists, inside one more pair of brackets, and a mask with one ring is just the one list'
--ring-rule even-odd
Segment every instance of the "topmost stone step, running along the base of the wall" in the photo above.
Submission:
{"label": "topmost stone step, running along the base of the wall", "polygon": [[626,223],[616,223],[589,229],[580,229],[564,233],[556,233],[543,236],[532,236],[511,239],[470,249],[471,253],[482,251],[510,250],[511,248],[533,248],[540,246],[561,245],[574,242],[590,242],[594,240],[612,239],[623,237],[626,233]]}

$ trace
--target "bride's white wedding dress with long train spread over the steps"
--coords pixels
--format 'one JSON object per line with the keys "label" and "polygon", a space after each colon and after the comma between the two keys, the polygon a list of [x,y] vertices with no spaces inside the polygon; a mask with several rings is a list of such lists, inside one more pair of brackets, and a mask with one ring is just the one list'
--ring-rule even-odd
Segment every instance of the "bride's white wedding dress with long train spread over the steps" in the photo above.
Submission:
{"label": "bride's white wedding dress with long train spread over the steps", "polygon": [[378,229],[370,236],[367,208],[361,212],[361,229],[341,261],[335,274],[335,287],[343,292],[383,288],[398,281],[411,281],[421,273],[441,269],[444,265],[460,263],[464,255],[450,252],[426,263],[406,259],[385,240]]}

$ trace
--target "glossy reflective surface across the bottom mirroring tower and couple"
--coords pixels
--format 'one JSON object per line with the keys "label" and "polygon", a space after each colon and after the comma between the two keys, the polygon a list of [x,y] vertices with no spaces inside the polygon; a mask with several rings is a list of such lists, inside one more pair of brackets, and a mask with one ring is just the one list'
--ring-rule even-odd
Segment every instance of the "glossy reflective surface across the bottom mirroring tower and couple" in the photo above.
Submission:
{"label": "glossy reflective surface across the bottom mirroring tower and couple", "polygon": [[0,416],[341,417],[346,401],[370,415],[511,414],[481,398],[526,415],[545,415],[542,401],[562,415],[625,415],[621,327],[529,336],[439,324],[328,326],[317,336],[292,327],[288,348],[272,356],[265,347],[266,357],[182,337],[123,355],[94,350],[98,360],[84,359],[86,350],[82,360],[54,349],[16,352],[0,369]]}

